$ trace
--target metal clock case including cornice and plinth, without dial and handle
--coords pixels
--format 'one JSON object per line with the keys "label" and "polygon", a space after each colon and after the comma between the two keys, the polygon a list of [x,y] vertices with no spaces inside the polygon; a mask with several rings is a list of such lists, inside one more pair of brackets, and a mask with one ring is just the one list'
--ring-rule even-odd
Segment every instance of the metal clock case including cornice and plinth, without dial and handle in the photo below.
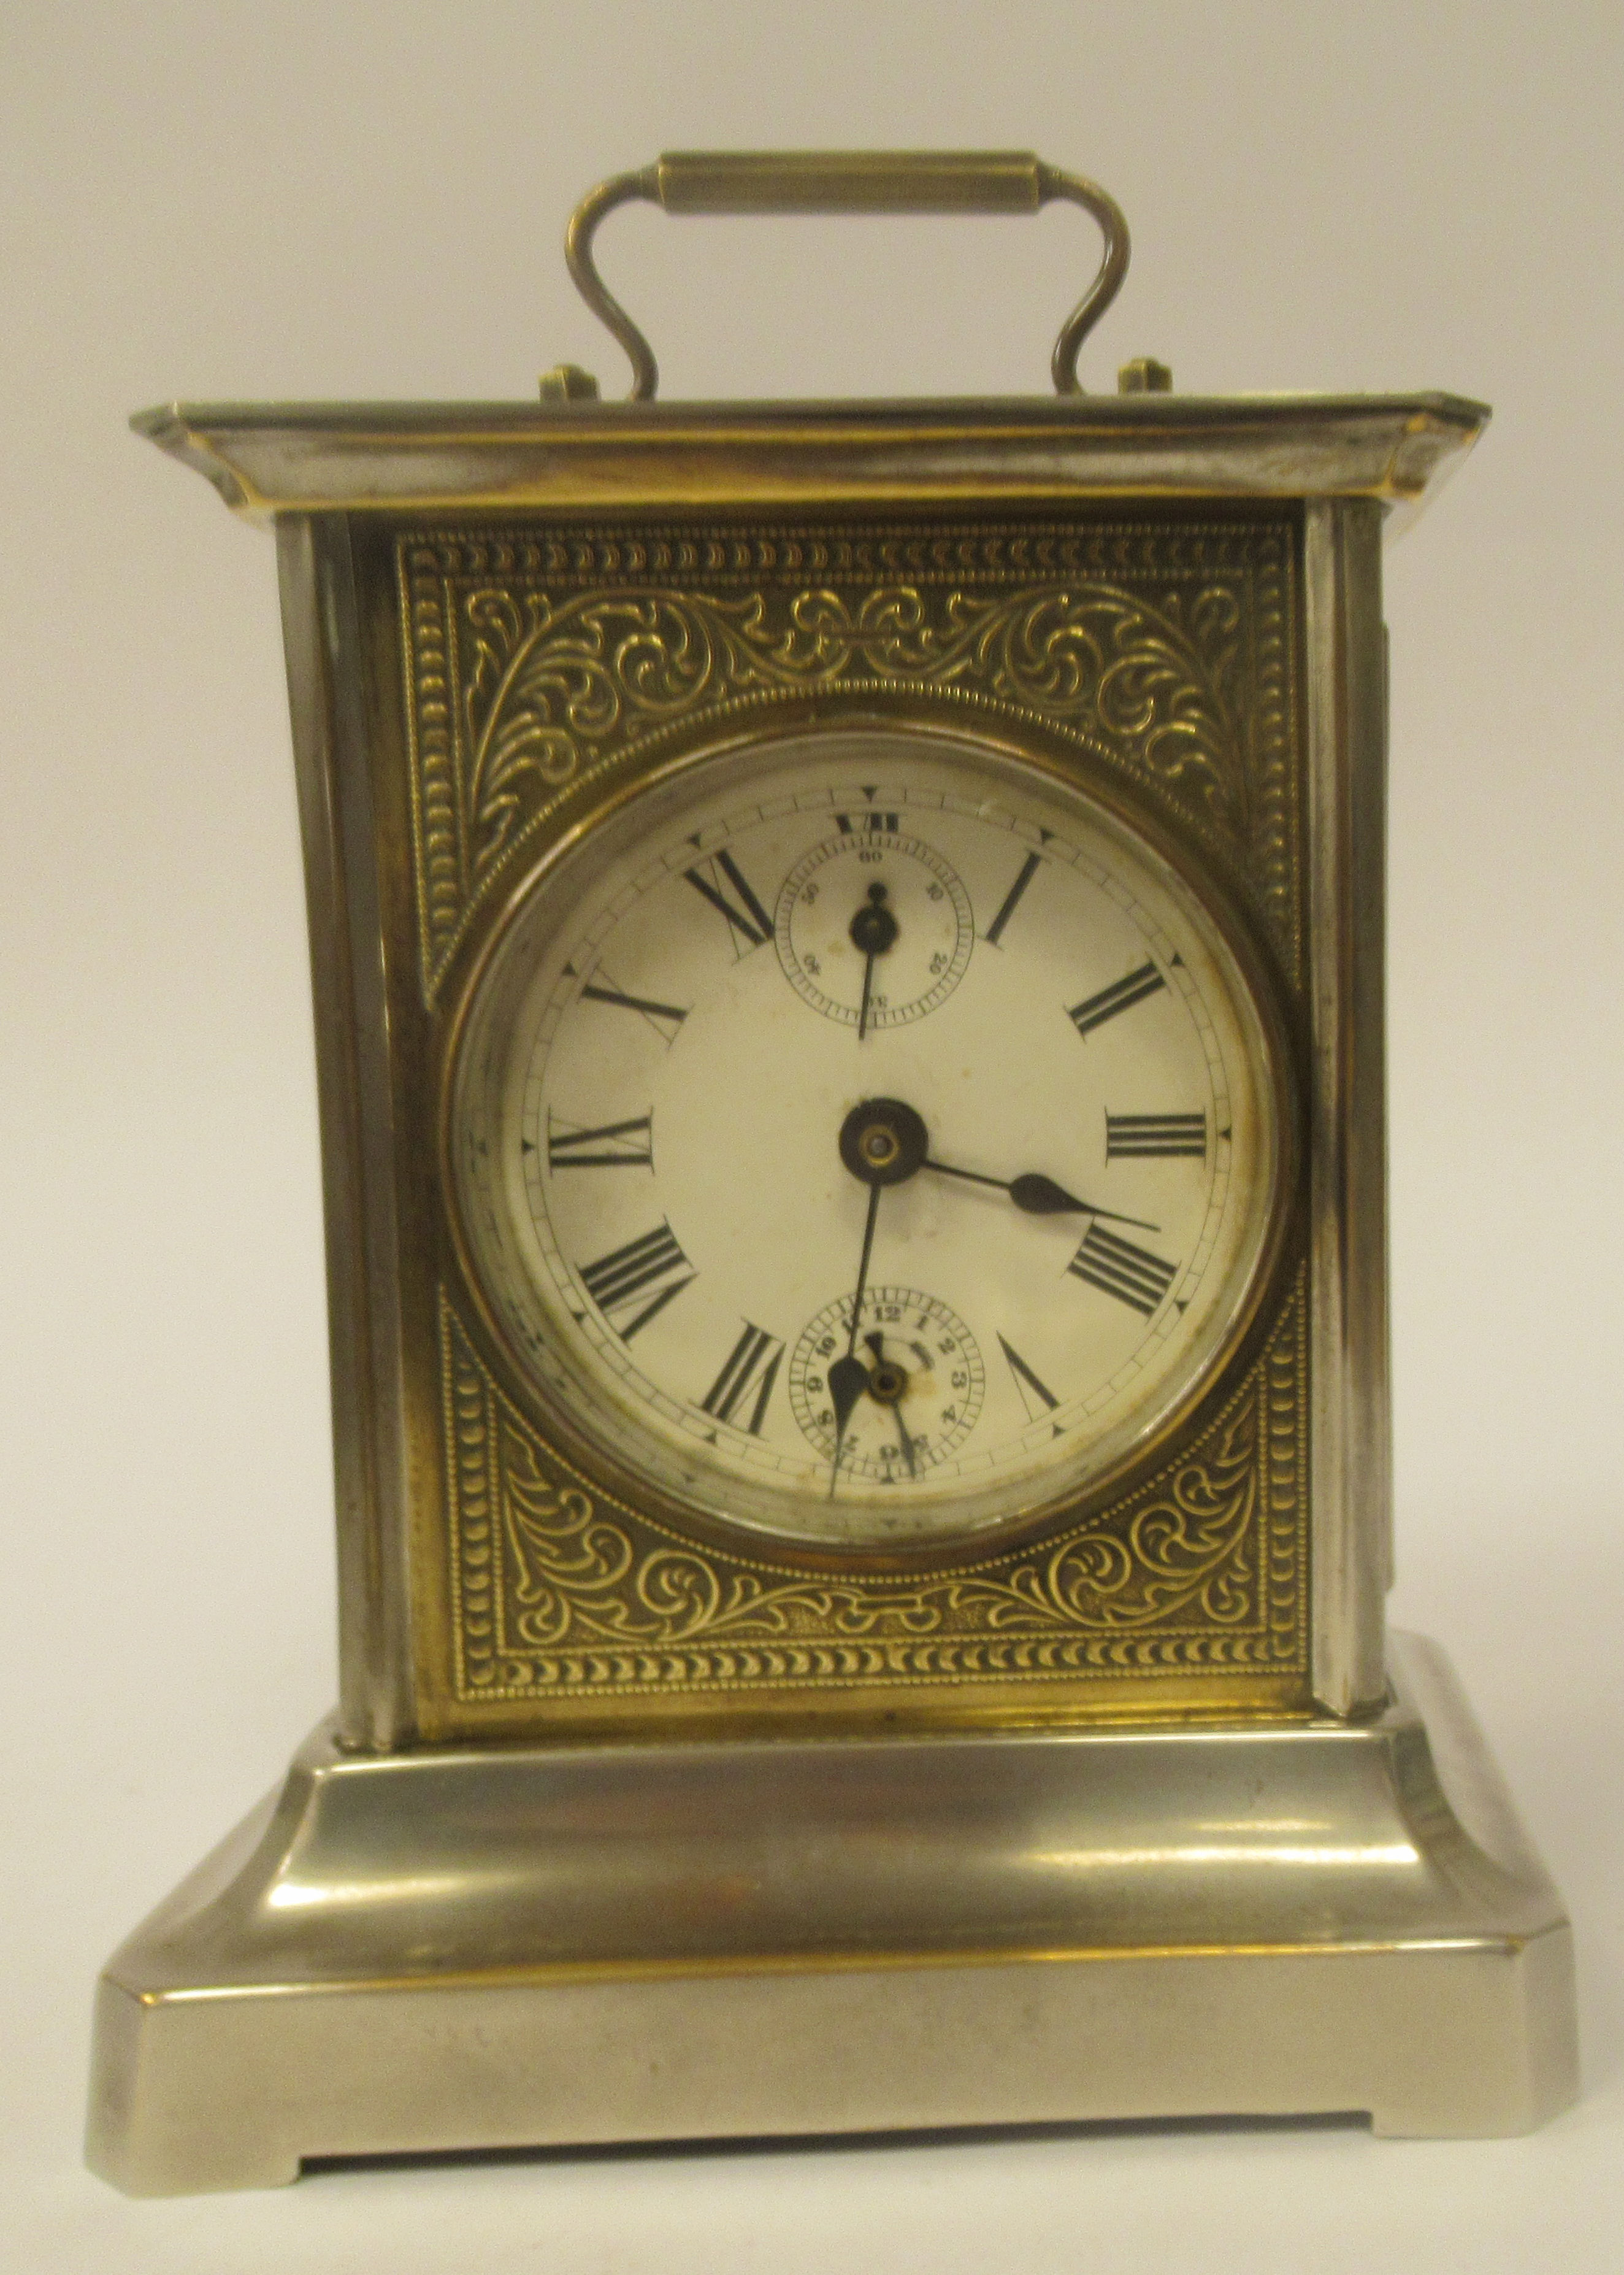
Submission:
{"label": "metal clock case including cornice and plinth, without dial and handle", "polygon": [[[1440,1654],[1383,1633],[1381,541],[1485,416],[136,419],[280,551],[341,1704],[109,1961],[96,2170],[1242,2111],[1515,2132],[1572,2095],[1560,1900]],[[537,853],[673,755],[846,719],[1037,751],[1174,849],[1278,1008],[1301,1133],[1194,1413],[1035,1538],[892,1563],[594,1472],[482,1320],[444,1156],[469,976]]]}

